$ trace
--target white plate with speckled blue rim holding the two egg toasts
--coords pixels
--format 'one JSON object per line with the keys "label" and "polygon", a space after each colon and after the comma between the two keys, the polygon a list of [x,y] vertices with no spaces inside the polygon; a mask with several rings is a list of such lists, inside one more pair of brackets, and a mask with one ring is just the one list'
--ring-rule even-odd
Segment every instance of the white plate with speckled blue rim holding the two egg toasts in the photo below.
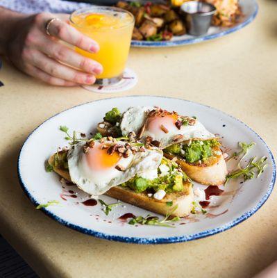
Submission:
{"label": "white plate with speckled blue rim holding the two egg toasts", "polygon": [[[190,218],[182,219],[175,223],[174,228],[140,225],[135,227],[128,222],[122,222],[118,217],[125,213],[144,216],[149,213],[129,204],[117,206],[110,215],[106,216],[100,204],[96,206],[81,204],[82,198],[88,196],[77,190],[76,186],[62,188],[58,175],[44,170],[44,162],[56,152],[58,147],[67,144],[64,134],[59,131],[60,125],[69,126],[72,131],[83,131],[89,134],[102,120],[106,111],[115,106],[124,111],[132,105],[161,106],[169,111],[177,111],[181,115],[196,115],[208,130],[219,133],[223,145],[232,151],[237,148],[238,140],[256,142],[249,156],[267,156],[269,165],[258,179],[251,179],[245,183],[240,183],[240,180],[233,181],[228,183],[226,188],[221,187],[225,190],[224,195],[212,197],[212,203],[215,202],[218,206],[209,208],[206,215],[192,215]],[[232,152],[231,150],[229,152]],[[276,167],[274,158],[262,138],[234,117],[191,101],[169,97],[134,96],[101,99],[81,104],[45,121],[28,136],[24,143],[18,159],[18,174],[24,192],[36,206],[52,200],[60,202],[60,205],[42,208],[42,211],[61,224],[99,238],[150,244],[177,243],[203,238],[246,220],[258,211],[269,197],[274,187]],[[194,183],[194,186],[205,188],[197,183]],[[67,197],[66,195],[72,195],[68,190],[76,192],[78,197]],[[63,197],[67,201],[60,197],[61,194],[64,194]],[[116,202],[115,199],[106,196],[101,199],[108,203]]]}

